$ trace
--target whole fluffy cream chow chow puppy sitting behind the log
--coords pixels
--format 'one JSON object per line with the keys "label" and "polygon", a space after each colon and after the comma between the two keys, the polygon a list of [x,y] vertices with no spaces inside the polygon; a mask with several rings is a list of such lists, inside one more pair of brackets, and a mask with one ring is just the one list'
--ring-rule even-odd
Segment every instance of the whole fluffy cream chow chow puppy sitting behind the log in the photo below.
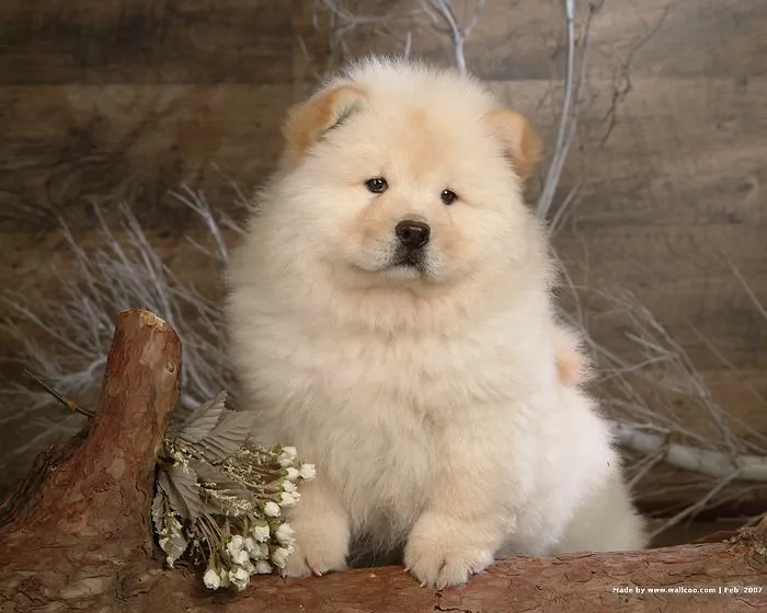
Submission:
{"label": "whole fluffy cream chow chow puppy sitting behind the log", "polygon": [[345,568],[355,539],[437,588],[497,557],[644,546],[556,323],[525,118],[471,78],[373,58],[284,132],[227,316],[256,439],[317,465],[286,574]]}

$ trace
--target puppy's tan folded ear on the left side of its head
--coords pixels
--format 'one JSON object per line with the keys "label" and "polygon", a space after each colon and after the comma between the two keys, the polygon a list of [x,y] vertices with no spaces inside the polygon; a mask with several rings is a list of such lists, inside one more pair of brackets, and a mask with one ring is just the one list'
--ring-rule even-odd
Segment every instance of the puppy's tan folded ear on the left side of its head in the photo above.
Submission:
{"label": "puppy's tan folded ear on the left side of its head", "polygon": [[337,85],[293,106],[283,126],[287,162],[300,160],[324,132],[342,124],[362,99],[363,92],[354,85]]}

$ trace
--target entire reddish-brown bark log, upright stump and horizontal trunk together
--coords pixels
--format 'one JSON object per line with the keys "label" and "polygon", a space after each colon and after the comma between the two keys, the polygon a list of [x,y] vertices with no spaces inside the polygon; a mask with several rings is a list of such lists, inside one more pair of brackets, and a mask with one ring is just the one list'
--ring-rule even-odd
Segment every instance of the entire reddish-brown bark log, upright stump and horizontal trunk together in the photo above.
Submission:
{"label": "entire reddish-brown bark log, upright stump and horizontal trunk together", "polygon": [[767,518],[718,543],[502,560],[442,592],[399,567],[257,577],[239,594],[209,592],[199,571],[163,569],[151,537],[154,463],[180,368],[164,322],[140,310],[119,315],[90,431],[44,451],[0,508],[0,612],[767,610]]}

